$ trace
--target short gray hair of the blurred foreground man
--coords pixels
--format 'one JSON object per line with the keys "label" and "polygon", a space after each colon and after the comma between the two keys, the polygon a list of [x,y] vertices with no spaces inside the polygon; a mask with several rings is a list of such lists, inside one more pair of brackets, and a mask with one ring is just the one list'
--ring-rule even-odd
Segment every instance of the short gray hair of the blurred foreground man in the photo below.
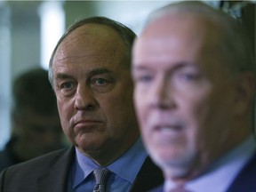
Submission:
{"label": "short gray hair of the blurred foreground man", "polygon": [[[243,24],[232,18],[228,13],[213,8],[199,1],[184,1],[166,6],[152,12],[148,17],[146,27],[165,15],[170,13],[192,13],[202,15],[203,18],[212,20],[223,30],[224,53],[226,53],[229,68],[232,71],[251,71],[255,75],[254,55],[252,52],[252,40],[248,39],[247,31]],[[166,24],[167,25],[167,24]]]}

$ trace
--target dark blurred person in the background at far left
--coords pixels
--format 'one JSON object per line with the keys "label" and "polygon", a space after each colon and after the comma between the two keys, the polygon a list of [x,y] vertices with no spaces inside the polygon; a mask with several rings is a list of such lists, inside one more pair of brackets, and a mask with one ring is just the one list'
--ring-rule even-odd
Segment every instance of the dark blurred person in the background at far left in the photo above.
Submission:
{"label": "dark blurred person in the background at far left", "polygon": [[12,84],[12,135],[0,151],[0,172],[36,156],[65,148],[56,97],[43,68],[33,68]]}

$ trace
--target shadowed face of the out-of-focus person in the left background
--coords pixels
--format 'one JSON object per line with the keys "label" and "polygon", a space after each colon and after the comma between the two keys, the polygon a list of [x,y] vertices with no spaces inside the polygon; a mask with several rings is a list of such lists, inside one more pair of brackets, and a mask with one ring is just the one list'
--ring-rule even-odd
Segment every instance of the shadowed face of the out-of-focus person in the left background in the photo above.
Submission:
{"label": "shadowed face of the out-of-focus person in the left background", "polygon": [[60,117],[56,114],[41,115],[32,108],[23,111],[19,122],[21,139],[26,142],[26,154],[36,157],[63,148]]}

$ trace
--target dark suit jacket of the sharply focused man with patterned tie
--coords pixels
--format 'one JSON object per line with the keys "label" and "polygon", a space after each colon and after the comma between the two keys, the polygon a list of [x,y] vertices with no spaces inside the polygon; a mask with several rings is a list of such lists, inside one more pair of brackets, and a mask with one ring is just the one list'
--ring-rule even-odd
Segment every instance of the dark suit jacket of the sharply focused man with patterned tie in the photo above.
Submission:
{"label": "dark suit jacket of the sharply focused man with patterned tie", "polygon": [[[62,149],[16,164],[1,172],[0,192],[65,192],[75,148]],[[146,159],[132,185],[132,192],[148,191],[163,183],[160,169]]]}

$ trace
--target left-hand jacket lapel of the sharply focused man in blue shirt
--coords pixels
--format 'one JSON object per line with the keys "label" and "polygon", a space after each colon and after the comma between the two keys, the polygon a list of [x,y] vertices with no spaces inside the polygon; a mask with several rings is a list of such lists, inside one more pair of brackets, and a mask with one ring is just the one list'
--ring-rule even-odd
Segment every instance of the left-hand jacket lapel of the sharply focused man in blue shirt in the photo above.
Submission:
{"label": "left-hand jacket lapel of the sharply focused man in blue shirt", "polygon": [[62,156],[57,156],[51,166],[37,180],[38,192],[63,192],[68,188],[68,173],[74,161],[75,148],[68,148]]}

